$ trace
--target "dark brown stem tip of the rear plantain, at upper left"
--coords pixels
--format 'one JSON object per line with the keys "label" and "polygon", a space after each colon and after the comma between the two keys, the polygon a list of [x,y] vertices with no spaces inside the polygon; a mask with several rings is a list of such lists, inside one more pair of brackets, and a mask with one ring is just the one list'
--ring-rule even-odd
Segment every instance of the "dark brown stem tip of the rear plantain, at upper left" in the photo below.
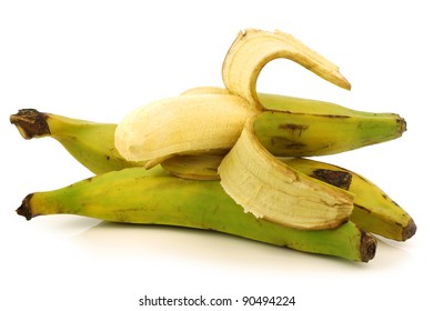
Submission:
{"label": "dark brown stem tip of the rear plantain, at upper left", "polygon": [[24,139],[32,139],[51,133],[47,118],[47,113],[36,109],[20,109],[18,113],[11,114],[9,120]]}

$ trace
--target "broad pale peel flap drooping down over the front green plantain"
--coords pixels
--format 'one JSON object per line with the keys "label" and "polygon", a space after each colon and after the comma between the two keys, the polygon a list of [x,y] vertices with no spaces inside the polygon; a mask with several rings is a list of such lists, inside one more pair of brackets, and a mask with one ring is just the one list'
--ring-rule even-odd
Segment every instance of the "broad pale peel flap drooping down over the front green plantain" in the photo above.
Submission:
{"label": "broad pale peel flap drooping down over the front green plantain", "polygon": [[352,195],[285,165],[258,141],[254,119],[218,168],[222,188],[258,218],[299,229],[329,229],[346,221]]}

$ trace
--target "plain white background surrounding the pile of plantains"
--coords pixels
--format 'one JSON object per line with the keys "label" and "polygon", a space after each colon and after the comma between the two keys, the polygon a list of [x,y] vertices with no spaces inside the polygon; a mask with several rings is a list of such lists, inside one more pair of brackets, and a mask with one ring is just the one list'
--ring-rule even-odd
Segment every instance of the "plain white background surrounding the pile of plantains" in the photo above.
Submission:
{"label": "plain white background surrounding the pile of plantains", "polygon": [[[141,310],[144,294],[260,294],[294,295],[291,310],[425,310],[433,277],[427,3],[1,1],[0,309]],[[411,240],[381,241],[365,264],[212,232],[73,215],[26,221],[16,214],[26,194],[90,172],[52,139],[23,140],[9,123],[11,113],[36,108],[118,122],[140,104],[192,87],[222,86],[225,52],[238,31],[249,27],[292,33],[336,63],[353,87],[344,91],[275,60],[260,76],[259,91],[406,119],[409,130],[399,140],[322,160],[384,189],[414,218],[419,231]],[[199,308],[184,310],[192,309]]]}

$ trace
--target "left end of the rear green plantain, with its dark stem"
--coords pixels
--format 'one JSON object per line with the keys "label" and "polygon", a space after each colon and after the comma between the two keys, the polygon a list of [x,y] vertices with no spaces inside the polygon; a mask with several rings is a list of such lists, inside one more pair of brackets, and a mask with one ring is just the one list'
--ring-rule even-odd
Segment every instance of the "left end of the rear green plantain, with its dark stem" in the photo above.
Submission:
{"label": "left end of the rear green plantain, with its dark stem", "polygon": [[99,174],[142,163],[125,161],[114,148],[117,124],[67,118],[36,109],[22,109],[10,116],[24,139],[51,137],[58,140],[80,163]]}

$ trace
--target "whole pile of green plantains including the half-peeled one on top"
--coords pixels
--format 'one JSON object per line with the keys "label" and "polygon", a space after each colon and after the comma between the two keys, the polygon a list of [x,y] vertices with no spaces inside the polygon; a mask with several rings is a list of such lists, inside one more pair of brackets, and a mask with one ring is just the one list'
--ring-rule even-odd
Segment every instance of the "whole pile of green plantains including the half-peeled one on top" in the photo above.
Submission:
{"label": "whole pile of green plantains including the half-peeled one on top", "polygon": [[290,59],[350,89],[338,67],[281,31],[246,29],[222,67],[225,88],[148,103],[119,124],[34,109],[10,117],[26,139],[52,137],[94,177],[27,195],[17,212],[214,230],[367,262],[374,234],[411,238],[413,219],[360,174],[304,157],[402,136],[394,113],[258,93],[262,68]]}

